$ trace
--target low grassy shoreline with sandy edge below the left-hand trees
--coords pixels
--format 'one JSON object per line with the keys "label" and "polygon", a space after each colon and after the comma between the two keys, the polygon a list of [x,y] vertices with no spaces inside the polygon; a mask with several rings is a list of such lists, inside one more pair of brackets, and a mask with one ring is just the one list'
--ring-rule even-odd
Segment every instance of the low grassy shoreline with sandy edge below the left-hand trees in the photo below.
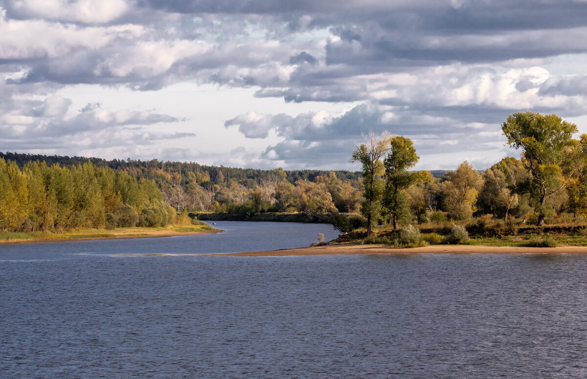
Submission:
{"label": "low grassy shoreline with sandy edge below the left-hand trees", "polygon": [[[126,233],[124,233],[126,232]],[[0,245],[10,244],[27,244],[27,243],[45,243],[45,242],[70,242],[70,241],[86,241],[86,240],[121,240],[121,239],[134,239],[134,238],[163,238],[163,237],[176,237],[176,236],[198,236],[201,234],[215,234],[224,232],[223,230],[200,230],[197,232],[174,232],[173,230],[149,230],[149,229],[136,229],[123,231],[119,234],[113,234],[112,236],[100,236],[102,233],[97,234],[95,237],[91,235],[87,237],[68,237],[67,234],[55,234],[54,236],[48,236],[46,238],[38,239],[16,239],[9,241],[0,241]],[[91,233],[88,233],[91,234]],[[75,234],[74,234],[75,236]]]}

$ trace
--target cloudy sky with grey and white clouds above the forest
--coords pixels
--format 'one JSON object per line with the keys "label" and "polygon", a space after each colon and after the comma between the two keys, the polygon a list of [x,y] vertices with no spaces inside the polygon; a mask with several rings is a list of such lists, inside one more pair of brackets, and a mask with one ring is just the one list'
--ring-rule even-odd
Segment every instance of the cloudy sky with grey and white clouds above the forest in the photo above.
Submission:
{"label": "cloudy sky with grey and white clouds above the forest", "polygon": [[0,0],[0,150],[484,169],[518,110],[587,132],[586,71],[587,0]]}

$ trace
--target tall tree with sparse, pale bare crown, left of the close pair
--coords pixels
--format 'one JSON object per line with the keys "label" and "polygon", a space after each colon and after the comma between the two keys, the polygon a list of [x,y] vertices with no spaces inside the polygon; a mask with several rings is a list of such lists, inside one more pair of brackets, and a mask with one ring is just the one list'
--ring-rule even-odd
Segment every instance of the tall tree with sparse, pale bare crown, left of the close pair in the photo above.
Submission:
{"label": "tall tree with sparse, pale bare crown, left of the close pair", "polygon": [[385,167],[382,157],[390,149],[390,137],[387,132],[376,136],[373,132],[365,138],[365,143],[357,146],[350,162],[360,162],[363,172],[363,187],[365,189],[365,201],[361,206],[361,213],[367,219],[367,235],[373,233],[373,224],[381,214],[381,202],[385,183],[383,175]]}

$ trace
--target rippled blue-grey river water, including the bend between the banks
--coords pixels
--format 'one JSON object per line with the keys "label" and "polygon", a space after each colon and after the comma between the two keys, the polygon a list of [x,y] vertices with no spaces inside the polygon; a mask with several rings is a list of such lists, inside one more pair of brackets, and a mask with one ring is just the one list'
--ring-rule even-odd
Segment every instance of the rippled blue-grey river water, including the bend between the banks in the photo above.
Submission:
{"label": "rippled blue-grey river water, including the bend between the banks", "polygon": [[218,227],[0,246],[0,377],[587,377],[587,256],[133,255],[336,236]]}

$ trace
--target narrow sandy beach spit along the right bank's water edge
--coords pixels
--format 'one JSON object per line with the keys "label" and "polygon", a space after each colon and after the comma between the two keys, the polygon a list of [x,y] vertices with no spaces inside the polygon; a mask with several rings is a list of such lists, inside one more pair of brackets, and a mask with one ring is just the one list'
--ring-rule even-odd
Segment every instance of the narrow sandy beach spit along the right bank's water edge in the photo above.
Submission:
{"label": "narrow sandy beach spit along the right bank's water edge", "polygon": [[413,249],[393,249],[386,245],[329,244],[327,246],[298,247],[274,251],[247,253],[205,254],[212,257],[271,257],[311,255],[407,255],[407,254],[587,254],[587,246],[514,247],[482,245],[430,245]]}

